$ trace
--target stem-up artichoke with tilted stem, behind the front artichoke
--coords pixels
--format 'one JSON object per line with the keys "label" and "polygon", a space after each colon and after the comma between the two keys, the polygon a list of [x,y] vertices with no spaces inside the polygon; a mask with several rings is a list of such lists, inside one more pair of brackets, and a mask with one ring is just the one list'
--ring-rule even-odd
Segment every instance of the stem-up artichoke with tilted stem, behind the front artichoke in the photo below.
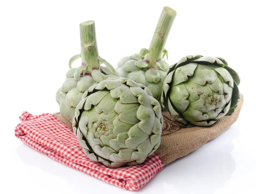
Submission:
{"label": "stem-up artichoke with tilted stem, behind the front artichoke", "polygon": [[164,7],[149,48],[141,49],[140,53],[124,57],[117,64],[116,70],[121,77],[145,85],[158,101],[160,101],[163,81],[169,69],[169,65],[163,59],[164,55],[168,57],[164,46],[175,17],[175,10]]}

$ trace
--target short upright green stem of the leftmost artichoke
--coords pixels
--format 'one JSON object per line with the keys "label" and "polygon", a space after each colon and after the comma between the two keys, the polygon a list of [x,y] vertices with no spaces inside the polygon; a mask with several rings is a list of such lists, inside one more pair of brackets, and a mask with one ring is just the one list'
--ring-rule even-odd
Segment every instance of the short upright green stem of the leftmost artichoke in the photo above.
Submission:
{"label": "short upright green stem of the leftmost artichoke", "polygon": [[99,53],[94,21],[80,23],[80,39],[82,65],[88,65],[87,72],[91,72],[92,69],[99,69]]}

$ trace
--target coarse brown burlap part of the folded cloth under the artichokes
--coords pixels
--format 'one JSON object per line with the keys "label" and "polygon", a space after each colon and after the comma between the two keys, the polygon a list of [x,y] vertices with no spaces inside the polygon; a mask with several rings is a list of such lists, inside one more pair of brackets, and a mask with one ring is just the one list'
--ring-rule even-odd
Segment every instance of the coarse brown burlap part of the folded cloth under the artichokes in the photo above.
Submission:
{"label": "coarse brown burlap part of the folded cloth under the artichokes", "polygon": [[[160,156],[163,166],[197,150],[206,142],[215,139],[221,135],[221,133],[226,131],[234,122],[236,122],[243,105],[243,101],[244,98],[242,96],[241,102],[236,108],[235,113],[230,116],[224,116],[210,127],[180,127],[175,120],[172,119],[170,113],[163,110],[162,114],[164,124],[161,144],[155,152]],[[70,122],[61,117],[60,113],[55,113],[54,115],[61,122],[71,126]]]}

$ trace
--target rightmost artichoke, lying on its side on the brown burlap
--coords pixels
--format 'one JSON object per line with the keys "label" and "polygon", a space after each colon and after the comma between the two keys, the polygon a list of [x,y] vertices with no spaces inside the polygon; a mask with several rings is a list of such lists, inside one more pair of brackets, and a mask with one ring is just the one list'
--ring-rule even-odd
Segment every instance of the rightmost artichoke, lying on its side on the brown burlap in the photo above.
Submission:
{"label": "rightmost artichoke, lying on its side on the brown burlap", "polygon": [[224,58],[188,55],[169,69],[161,101],[180,126],[210,126],[234,112],[239,84]]}

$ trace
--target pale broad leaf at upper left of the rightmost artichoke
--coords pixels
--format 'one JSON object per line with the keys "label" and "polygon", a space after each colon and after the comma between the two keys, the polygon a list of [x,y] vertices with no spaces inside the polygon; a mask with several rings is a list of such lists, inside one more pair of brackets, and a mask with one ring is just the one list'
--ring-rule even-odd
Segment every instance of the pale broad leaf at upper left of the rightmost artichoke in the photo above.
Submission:
{"label": "pale broad leaf at upper left of the rightmost artichoke", "polygon": [[177,67],[172,77],[172,86],[188,81],[188,76],[193,76],[198,64],[189,63],[181,67]]}

